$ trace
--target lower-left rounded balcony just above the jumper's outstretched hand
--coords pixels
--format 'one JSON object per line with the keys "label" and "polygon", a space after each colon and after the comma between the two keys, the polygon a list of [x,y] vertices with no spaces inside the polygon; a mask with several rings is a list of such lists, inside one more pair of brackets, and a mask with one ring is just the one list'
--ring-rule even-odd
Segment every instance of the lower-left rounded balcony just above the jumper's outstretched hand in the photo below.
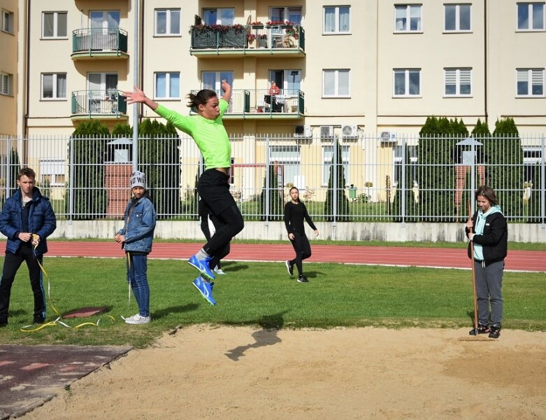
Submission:
{"label": "lower-left rounded balcony just above the jumper's outstretched hand", "polygon": [[127,102],[117,90],[77,90],[72,92],[71,119],[127,119]]}

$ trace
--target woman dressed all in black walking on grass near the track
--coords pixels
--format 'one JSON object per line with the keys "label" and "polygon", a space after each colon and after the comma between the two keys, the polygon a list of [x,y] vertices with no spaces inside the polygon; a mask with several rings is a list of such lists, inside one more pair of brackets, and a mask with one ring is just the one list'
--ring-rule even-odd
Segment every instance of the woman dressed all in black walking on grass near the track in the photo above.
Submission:
{"label": "woman dressed all in black walking on grass near the track", "polygon": [[298,281],[307,283],[308,279],[303,275],[303,260],[311,256],[311,246],[307,239],[306,230],[303,227],[303,219],[307,221],[311,229],[315,231],[315,235],[319,235],[319,231],[312,223],[312,220],[307,212],[306,205],[299,200],[299,190],[296,187],[290,188],[290,201],[285,204],[285,225],[288,232],[288,239],[294,246],[296,258],[285,262],[288,269],[288,274],[294,274],[294,264],[298,269]]}

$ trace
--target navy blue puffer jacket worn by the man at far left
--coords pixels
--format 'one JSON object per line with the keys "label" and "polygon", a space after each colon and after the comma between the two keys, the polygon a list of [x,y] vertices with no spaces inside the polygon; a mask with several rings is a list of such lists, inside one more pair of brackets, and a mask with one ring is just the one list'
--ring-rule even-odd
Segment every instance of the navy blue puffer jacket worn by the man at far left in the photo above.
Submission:
{"label": "navy blue puffer jacket worn by the man at far left", "polygon": [[[8,237],[6,251],[16,253],[22,245],[18,235],[22,232],[22,195],[20,188],[6,200],[0,214],[0,232]],[[44,197],[37,187],[32,190],[32,200],[29,209],[29,231],[40,235],[36,246],[36,255],[48,252],[48,242],[45,240],[57,228],[55,213],[48,197]]]}

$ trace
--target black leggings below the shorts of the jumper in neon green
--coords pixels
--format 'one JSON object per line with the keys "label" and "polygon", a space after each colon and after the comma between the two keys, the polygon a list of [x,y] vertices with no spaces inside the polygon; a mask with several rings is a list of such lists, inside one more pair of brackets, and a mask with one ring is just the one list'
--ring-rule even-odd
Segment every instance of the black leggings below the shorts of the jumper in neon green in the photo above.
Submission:
{"label": "black leggings below the shorts of the jumper in neon green", "polygon": [[245,227],[243,215],[236,204],[228,207],[217,216],[218,226],[213,237],[209,239],[203,249],[213,256],[210,267],[215,267],[229,253],[229,241]]}

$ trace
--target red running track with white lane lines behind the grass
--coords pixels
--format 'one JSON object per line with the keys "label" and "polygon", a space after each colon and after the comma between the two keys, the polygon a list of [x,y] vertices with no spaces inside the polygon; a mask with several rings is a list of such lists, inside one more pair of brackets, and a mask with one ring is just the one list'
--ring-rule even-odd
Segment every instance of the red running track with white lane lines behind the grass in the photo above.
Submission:
{"label": "red running track with white lane lines behind the grass", "polygon": [[[199,243],[156,242],[150,258],[187,259],[199,250]],[[115,241],[50,241],[50,256],[122,258],[124,252]],[[366,265],[443,267],[470,269],[466,249],[403,248],[394,246],[345,246],[311,244],[310,262],[345,262]],[[287,244],[231,244],[226,260],[285,261],[294,250]],[[508,251],[506,267],[510,271],[546,272],[546,251]]]}

